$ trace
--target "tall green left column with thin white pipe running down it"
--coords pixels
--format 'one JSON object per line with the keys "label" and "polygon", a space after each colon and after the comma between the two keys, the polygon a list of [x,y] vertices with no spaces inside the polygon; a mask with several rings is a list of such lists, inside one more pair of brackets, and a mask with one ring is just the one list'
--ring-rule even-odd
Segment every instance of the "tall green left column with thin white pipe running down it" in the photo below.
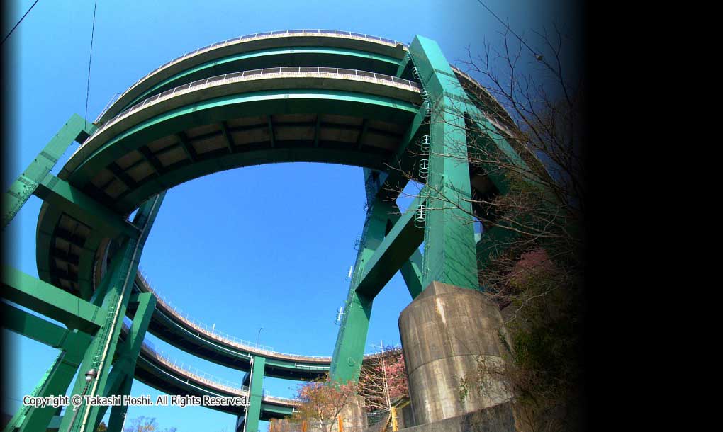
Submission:
{"label": "tall green left column with thin white pipe running down it", "polygon": [[[106,392],[108,371],[116,353],[121,323],[130,301],[133,280],[138,271],[143,246],[150,228],[153,226],[153,220],[158,215],[158,207],[163,202],[163,196],[165,196],[165,192],[154,196],[140,207],[134,220],[134,225],[141,227],[139,238],[127,238],[113,259],[118,264],[111,266],[113,271],[108,272],[105,276],[111,278],[108,282],[108,292],[103,300],[103,308],[108,311],[108,315],[105,324],[85,352],[71,396],[84,393],[95,396]],[[95,370],[97,376],[86,384],[85,373],[91,370]],[[100,421],[99,414],[99,407],[80,405],[77,410],[66,412],[61,421],[61,430],[68,432],[94,431]]]}

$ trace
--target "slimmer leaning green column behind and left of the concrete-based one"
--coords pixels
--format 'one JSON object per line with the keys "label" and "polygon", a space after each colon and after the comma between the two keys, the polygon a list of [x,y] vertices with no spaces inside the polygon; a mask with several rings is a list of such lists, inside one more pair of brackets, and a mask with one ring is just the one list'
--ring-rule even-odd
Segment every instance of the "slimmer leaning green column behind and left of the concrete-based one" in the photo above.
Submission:
{"label": "slimmer leaning green column behind and left of the concrete-based one", "polygon": [[[356,254],[354,276],[349,284],[349,293],[344,306],[341,327],[336,338],[334,355],[331,360],[330,376],[337,381],[358,381],[364,345],[367,343],[369,318],[372,316],[373,296],[356,291],[364,275],[364,267],[384,240],[387,221],[393,207],[388,202],[375,201],[364,223],[359,252]],[[377,287],[378,293],[382,287]]]}

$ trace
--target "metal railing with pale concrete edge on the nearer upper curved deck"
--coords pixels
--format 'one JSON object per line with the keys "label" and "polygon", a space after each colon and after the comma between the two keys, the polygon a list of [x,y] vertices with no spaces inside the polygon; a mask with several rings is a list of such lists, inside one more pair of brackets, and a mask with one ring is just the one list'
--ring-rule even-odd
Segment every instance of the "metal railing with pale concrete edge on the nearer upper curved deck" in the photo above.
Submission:
{"label": "metal railing with pale concrete edge on the nearer upper curved deck", "polygon": [[414,81],[408,79],[401,79],[392,77],[385,74],[376,74],[374,72],[360,71],[357,69],[343,69],[335,67],[318,67],[318,66],[291,66],[291,67],[273,67],[265,69],[253,69],[250,71],[234,72],[231,74],[217,75],[215,77],[209,77],[206,79],[199,79],[194,82],[189,82],[184,85],[179,85],[165,92],[161,92],[158,95],[153,95],[150,98],[144,99],[141,102],[133,105],[127,110],[121,111],[116,114],[114,118],[106,121],[103,126],[100,126],[91,136],[86,139],[83,144],[75,150],[75,153],[79,152],[88,142],[91,142],[94,137],[102,133],[109,127],[116,124],[121,118],[128,116],[134,111],[138,111],[145,105],[151,105],[155,103],[161,103],[164,100],[174,98],[177,95],[183,95],[189,92],[200,90],[201,88],[208,88],[218,85],[227,85],[232,82],[243,82],[251,81],[254,79],[273,79],[273,78],[294,78],[294,77],[318,77],[323,75],[328,78],[337,79],[354,79],[356,81],[374,82],[376,84],[390,85],[392,87],[403,88],[414,92],[419,92],[419,85]]}

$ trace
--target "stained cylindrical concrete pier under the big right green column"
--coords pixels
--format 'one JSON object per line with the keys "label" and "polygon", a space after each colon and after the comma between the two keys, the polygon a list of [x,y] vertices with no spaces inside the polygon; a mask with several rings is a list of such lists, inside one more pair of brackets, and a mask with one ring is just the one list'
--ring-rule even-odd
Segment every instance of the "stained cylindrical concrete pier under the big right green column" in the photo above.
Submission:
{"label": "stained cylindrical concrete pier under the big right green column", "polygon": [[399,316],[415,425],[500,405],[510,397],[492,377],[489,392],[460,397],[461,378],[480,355],[500,365],[502,317],[476,290],[432,282]]}

